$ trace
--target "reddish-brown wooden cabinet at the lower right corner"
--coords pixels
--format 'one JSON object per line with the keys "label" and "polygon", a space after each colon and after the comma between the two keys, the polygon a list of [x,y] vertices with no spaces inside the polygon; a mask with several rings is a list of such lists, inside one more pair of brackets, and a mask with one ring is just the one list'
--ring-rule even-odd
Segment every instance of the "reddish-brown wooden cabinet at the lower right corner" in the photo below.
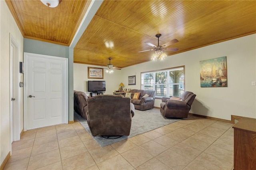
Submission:
{"label": "reddish-brown wooden cabinet at the lower right corner", "polygon": [[256,169],[256,119],[243,117],[234,128],[234,170]]}

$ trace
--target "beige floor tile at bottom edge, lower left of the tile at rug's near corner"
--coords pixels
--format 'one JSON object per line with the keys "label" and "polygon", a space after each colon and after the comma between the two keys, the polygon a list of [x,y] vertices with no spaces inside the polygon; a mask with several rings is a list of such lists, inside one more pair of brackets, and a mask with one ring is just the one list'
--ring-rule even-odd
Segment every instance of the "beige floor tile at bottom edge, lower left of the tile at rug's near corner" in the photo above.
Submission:
{"label": "beige floor tile at bottom edge, lower left of the tile at rug's near corner", "polygon": [[84,170],[94,165],[95,162],[89,152],[62,160],[63,170]]}

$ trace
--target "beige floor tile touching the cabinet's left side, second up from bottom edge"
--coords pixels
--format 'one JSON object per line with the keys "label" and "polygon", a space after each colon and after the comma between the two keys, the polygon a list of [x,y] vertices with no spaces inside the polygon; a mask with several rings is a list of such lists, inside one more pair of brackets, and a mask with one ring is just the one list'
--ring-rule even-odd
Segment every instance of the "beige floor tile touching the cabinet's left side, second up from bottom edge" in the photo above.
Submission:
{"label": "beige floor tile touching the cabinet's left side, second up from bottom edge", "polygon": [[234,162],[234,153],[218,146],[209,146],[204,152],[231,164]]}

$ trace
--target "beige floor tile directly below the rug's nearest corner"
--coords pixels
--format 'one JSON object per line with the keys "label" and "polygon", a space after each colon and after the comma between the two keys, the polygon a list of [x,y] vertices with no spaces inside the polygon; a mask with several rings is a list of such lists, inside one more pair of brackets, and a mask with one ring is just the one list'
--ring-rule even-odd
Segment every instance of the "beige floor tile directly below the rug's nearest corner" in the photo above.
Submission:
{"label": "beige floor tile directly below the rug's nearest corner", "polygon": [[97,164],[118,155],[118,152],[112,146],[96,148],[94,150],[89,150],[89,152]]}

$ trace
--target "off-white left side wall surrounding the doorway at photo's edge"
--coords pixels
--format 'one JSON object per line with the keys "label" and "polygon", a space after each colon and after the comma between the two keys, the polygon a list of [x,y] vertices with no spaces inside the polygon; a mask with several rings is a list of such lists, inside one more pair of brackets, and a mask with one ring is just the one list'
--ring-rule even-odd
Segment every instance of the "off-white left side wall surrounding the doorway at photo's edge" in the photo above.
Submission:
{"label": "off-white left side wall surrounding the doorway at photo's edge", "polygon": [[[10,152],[10,54],[9,33],[19,46],[19,61],[23,61],[23,37],[5,1],[0,1],[0,164]],[[21,75],[19,76],[20,80]],[[23,88],[20,94],[20,132],[23,129]]]}

